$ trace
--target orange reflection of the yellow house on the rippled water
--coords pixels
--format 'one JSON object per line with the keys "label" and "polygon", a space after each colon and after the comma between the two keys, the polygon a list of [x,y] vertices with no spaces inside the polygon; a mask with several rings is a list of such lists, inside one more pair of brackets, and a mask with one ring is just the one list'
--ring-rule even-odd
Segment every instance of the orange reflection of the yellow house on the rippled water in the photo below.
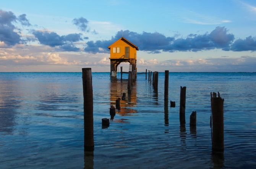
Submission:
{"label": "orange reflection of the yellow house on the rippled water", "polygon": [[120,110],[116,110],[116,113],[123,116],[133,115],[137,113],[137,110],[133,109],[137,104],[137,91],[136,82],[132,86],[131,95],[128,96],[127,93],[127,83],[128,80],[116,80],[113,79],[109,83],[110,89],[110,105],[115,105],[115,100],[120,97],[122,98],[122,93],[126,93],[126,100],[120,100]]}

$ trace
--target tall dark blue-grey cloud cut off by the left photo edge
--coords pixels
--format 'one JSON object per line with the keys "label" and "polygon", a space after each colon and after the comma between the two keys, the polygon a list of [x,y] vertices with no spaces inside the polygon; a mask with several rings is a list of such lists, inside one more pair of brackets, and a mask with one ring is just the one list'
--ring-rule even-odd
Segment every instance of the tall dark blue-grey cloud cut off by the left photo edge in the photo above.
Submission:
{"label": "tall dark blue-grey cloud cut off by the left photo edge", "polygon": [[11,11],[0,10],[0,41],[7,46],[15,45],[21,41],[21,36],[14,31],[16,16]]}

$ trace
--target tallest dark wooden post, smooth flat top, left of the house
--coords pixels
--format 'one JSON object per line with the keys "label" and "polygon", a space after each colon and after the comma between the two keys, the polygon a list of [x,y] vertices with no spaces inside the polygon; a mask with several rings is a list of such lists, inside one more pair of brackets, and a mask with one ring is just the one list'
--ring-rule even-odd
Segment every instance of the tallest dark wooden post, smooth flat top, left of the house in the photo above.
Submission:
{"label": "tallest dark wooden post, smooth flat top, left of the house", "polygon": [[92,70],[82,68],[84,96],[84,151],[94,151]]}

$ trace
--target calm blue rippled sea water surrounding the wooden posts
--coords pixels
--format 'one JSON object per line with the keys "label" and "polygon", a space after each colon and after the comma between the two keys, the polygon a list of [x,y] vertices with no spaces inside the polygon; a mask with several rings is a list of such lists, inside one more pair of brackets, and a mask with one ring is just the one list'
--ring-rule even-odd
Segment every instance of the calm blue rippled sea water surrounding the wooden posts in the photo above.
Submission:
{"label": "calm blue rippled sea water surrounding the wooden posts", "polygon": [[[120,75],[118,75],[120,77]],[[127,79],[127,75],[124,75]],[[255,168],[256,73],[164,73],[158,91],[138,75],[131,98],[110,118],[127,80],[92,73],[94,156],[83,150],[81,73],[0,73],[0,168]],[[180,128],[180,86],[186,86],[186,127]],[[223,155],[212,154],[210,92],[224,101]],[[196,132],[189,116],[197,112]]]}

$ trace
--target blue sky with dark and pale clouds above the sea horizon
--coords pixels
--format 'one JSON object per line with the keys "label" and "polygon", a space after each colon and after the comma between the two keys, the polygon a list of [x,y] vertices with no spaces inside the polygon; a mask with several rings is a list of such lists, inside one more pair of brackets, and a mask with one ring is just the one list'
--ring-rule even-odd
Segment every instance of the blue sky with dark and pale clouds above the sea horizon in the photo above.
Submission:
{"label": "blue sky with dark and pale clouds above the sea horizon", "polygon": [[122,36],[138,71],[256,72],[255,30],[255,0],[1,0],[0,72],[108,72]]}

